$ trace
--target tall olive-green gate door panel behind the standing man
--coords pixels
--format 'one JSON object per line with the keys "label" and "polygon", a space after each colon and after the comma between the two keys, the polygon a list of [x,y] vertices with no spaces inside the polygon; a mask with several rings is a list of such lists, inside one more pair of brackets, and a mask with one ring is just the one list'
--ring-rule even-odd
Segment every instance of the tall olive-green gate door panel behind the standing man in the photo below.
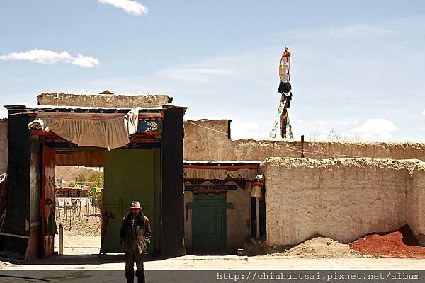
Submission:
{"label": "tall olive-green gate door panel behind the standing man", "polygon": [[[123,253],[120,246],[121,219],[129,211],[132,200],[139,200],[152,228],[152,244],[159,243],[159,203],[161,195],[160,149],[113,149],[105,151],[103,206],[108,219],[102,253]],[[157,205],[155,205],[157,204]],[[104,222],[106,224],[106,221]]]}

